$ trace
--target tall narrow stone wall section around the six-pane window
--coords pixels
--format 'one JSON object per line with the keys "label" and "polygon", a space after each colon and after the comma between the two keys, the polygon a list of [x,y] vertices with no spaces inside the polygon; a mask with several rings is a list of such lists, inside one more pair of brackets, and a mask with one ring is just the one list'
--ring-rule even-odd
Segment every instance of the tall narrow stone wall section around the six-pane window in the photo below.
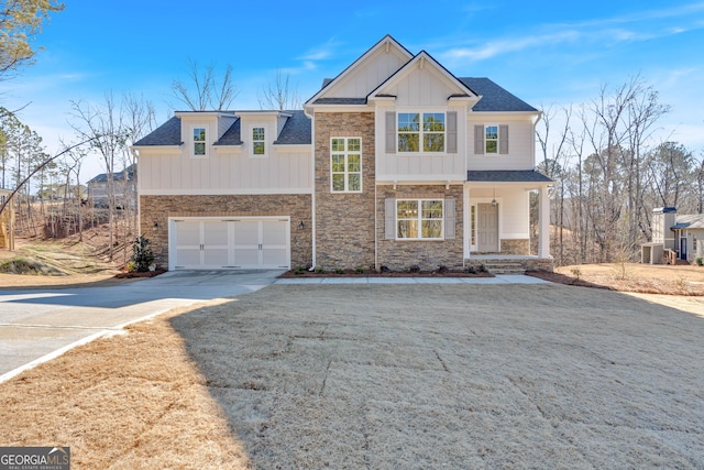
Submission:
{"label": "tall narrow stone wall section around the six-pane window", "polygon": [[[326,271],[374,267],[374,113],[317,112],[316,264]],[[362,139],[362,193],[332,193],[330,139]]]}

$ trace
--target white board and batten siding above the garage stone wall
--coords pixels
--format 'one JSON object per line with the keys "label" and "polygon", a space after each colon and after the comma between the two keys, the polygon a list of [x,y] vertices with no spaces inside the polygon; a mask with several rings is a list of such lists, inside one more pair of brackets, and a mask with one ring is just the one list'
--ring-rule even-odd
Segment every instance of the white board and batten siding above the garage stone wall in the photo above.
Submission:
{"label": "white board and batten siding above the garage stone wall", "polygon": [[207,159],[191,159],[186,149],[177,154],[143,149],[139,157],[140,194],[310,194],[309,149],[286,151],[274,145],[266,159],[251,159],[239,149],[228,153],[211,147]]}

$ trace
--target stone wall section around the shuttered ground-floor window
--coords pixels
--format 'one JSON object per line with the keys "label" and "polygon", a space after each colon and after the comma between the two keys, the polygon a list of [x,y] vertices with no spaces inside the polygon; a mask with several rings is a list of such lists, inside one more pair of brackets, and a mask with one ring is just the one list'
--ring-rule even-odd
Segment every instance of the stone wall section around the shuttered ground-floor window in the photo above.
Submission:
{"label": "stone wall section around the shuttered ground-floor window", "polygon": [[[462,186],[454,185],[446,189],[444,185],[432,186],[380,186],[377,187],[377,225],[378,263],[392,271],[408,271],[410,266],[419,266],[424,271],[437,270],[446,266],[450,270],[462,270],[464,251],[463,238],[463,199]],[[386,198],[454,198],[455,205],[455,237],[451,240],[386,240],[385,218]]]}

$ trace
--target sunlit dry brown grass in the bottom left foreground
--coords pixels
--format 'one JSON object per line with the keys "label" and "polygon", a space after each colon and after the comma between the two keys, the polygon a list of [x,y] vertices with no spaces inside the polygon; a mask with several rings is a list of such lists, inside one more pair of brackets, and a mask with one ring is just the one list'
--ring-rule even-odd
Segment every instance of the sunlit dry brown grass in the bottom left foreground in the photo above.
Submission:
{"label": "sunlit dry brown grass in the bottom left foreground", "polygon": [[183,311],[0,385],[1,445],[70,446],[76,469],[250,468],[169,326]]}

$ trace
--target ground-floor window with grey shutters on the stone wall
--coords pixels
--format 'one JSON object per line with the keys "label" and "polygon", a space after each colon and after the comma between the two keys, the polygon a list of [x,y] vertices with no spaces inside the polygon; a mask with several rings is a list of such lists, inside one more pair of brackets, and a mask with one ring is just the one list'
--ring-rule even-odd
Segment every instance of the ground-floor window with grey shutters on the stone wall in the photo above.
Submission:
{"label": "ground-floor window with grey shutters on the stone wall", "polygon": [[443,205],[443,199],[397,199],[396,238],[441,240]]}

